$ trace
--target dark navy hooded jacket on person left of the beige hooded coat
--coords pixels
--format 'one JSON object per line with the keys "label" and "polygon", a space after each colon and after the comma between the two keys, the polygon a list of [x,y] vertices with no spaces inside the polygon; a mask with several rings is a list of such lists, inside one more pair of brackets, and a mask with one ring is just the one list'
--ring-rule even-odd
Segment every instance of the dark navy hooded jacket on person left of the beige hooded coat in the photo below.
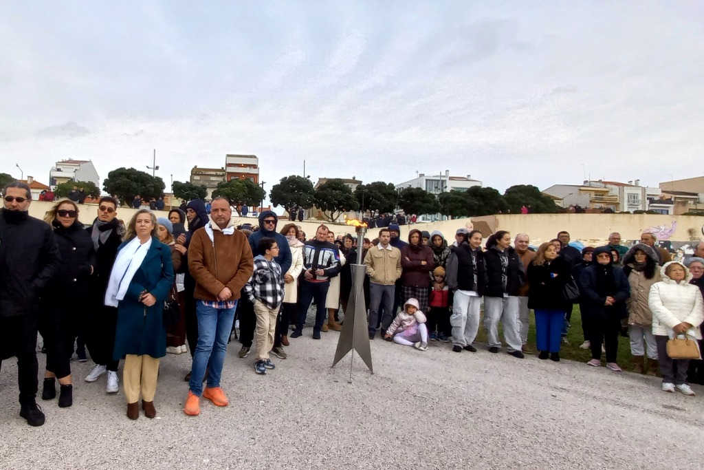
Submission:
{"label": "dark navy hooded jacket on person left of the beige hooded coat", "polygon": [[[609,264],[599,264],[596,257],[600,253],[609,255]],[[611,286],[601,285],[600,279],[608,280]],[[582,314],[596,319],[617,317],[623,319],[627,316],[626,300],[631,294],[631,285],[623,269],[614,266],[609,247],[598,247],[594,250],[593,262],[582,271],[577,281],[579,293],[582,296],[580,307]],[[604,305],[606,297],[613,297],[613,305]]]}

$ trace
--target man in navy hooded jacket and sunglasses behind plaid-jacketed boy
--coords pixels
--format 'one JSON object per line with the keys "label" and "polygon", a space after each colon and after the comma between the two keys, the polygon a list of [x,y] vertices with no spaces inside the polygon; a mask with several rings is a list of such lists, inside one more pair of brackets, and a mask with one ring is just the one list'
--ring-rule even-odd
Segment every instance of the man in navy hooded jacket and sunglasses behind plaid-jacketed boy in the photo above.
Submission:
{"label": "man in navy hooded jacket and sunglasses behind plaid-jacketed boy", "polygon": [[[252,249],[252,256],[264,256],[264,253],[259,252],[259,240],[264,237],[269,237],[276,240],[276,243],[279,246],[279,253],[274,257],[274,261],[281,266],[281,272],[285,274],[291,267],[291,248],[289,248],[289,241],[286,240],[286,237],[276,231],[277,223],[279,223],[279,218],[276,216],[274,211],[262,211],[262,213],[259,214],[259,230],[252,233],[252,235],[249,235],[249,247]],[[238,314],[239,342],[242,344],[241,350],[239,350],[239,357],[244,359],[247,357],[247,354],[249,354],[249,350],[252,347],[254,331],[257,326],[254,306],[251,302],[249,302],[249,296],[242,296]],[[275,344],[274,346],[276,349],[279,345]],[[282,357],[282,355],[284,355],[284,357]],[[285,354],[282,355],[277,354],[277,357],[286,359]]]}

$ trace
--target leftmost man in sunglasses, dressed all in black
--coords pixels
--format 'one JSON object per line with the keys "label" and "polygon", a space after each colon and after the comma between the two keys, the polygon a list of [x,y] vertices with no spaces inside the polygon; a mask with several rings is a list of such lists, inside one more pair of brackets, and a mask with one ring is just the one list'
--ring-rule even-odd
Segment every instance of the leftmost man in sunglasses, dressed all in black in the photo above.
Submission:
{"label": "leftmost man in sunglasses, dressed all in black", "polygon": [[37,406],[39,296],[58,273],[61,255],[49,224],[30,217],[30,187],[17,181],[3,191],[0,214],[0,361],[17,357],[20,416],[44,424]]}

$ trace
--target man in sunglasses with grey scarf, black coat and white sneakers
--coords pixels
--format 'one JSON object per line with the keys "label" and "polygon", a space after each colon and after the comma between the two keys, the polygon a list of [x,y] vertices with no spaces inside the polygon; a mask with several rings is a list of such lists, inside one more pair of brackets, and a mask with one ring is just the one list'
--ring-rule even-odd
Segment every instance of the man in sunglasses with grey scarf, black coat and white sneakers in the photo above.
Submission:
{"label": "man in sunglasses with grey scarf, black coat and white sneakers", "polygon": [[105,305],[105,292],[108,280],[118,256],[124,230],[118,220],[118,202],[113,197],[101,197],[98,203],[98,216],[87,230],[93,240],[96,252],[95,276],[91,276],[92,308],[85,312],[86,345],[95,367],[85,381],[95,382],[104,373],[108,374],[106,391],[117,393],[118,364],[113,359],[115,349],[115,328],[118,323],[118,309]]}

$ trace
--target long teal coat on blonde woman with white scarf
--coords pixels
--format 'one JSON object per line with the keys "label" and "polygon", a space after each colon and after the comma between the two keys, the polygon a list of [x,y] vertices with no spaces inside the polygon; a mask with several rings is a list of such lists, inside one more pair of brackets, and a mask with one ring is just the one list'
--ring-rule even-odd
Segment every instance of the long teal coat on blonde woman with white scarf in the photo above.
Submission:
{"label": "long teal coat on blonde woman with white scarf", "polygon": [[[125,245],[127,242],[120,245],[118,253]],[[151,246],[144,256],[142,266],[134,273],[125,298],[118,304],[113,359],[122,359],[125,354],[147,354],[151,357],[166,355],[166,328],[163,326],[162,314],[164,300],[173,282],[171,249],[156,237],[151,237]],[[156,297],[156,304],[146,307],[139,302],[139,295],[144,290]]]}

